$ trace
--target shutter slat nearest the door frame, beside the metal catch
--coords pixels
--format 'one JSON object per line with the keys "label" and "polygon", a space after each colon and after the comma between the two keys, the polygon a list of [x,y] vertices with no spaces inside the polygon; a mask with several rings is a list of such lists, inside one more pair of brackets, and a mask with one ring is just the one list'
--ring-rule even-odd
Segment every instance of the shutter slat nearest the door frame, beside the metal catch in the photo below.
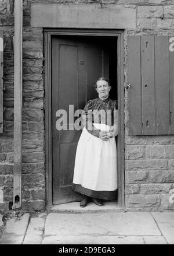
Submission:
{"label": "shutter slat nearest the door frame, beside the metal catch", "polygon": [[129,135],[142,134],[140,36],[128,37],[128,89]]}

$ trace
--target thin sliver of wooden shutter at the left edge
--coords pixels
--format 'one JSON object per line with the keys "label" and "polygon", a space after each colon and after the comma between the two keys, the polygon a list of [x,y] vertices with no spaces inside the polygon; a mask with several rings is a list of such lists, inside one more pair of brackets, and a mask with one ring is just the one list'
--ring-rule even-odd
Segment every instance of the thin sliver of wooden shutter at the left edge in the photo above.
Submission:
{"label": "thin sliver of wooden shutter at the left edge", "polygon": [[0,134],[3,132],[3,31],[0,31]]}

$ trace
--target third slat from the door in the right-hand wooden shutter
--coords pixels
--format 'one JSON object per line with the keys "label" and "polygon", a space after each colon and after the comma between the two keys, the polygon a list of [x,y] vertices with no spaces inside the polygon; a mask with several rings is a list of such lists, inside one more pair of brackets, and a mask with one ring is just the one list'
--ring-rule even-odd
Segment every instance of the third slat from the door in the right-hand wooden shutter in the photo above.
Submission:
{"label": "third slat from the door in the right-hand wooden shutter", "polygon": [[155,36],[155,130],[169,134],[169,37]]}

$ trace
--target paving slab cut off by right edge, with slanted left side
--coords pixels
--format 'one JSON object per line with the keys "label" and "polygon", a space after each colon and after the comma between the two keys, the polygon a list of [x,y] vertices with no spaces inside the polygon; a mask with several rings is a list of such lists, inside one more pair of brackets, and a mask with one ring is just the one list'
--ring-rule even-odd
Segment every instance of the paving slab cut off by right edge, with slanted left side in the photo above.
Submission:
{"label": "paving slab cut off by right edge, with slanted left side", "polygon": [[168,243],[174,244],[174,211],[153,212],[152,215]]}

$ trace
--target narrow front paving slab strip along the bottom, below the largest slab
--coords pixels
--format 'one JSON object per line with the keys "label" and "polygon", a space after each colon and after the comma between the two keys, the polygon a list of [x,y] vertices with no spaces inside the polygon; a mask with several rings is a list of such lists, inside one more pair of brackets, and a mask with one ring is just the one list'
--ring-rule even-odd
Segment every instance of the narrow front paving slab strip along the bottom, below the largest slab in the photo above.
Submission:
{"label": "narrow front paving slab strip along the bottom, below the largest slab", "polygon": [[144,244],[139,236],[48,236],[42,244]]}

